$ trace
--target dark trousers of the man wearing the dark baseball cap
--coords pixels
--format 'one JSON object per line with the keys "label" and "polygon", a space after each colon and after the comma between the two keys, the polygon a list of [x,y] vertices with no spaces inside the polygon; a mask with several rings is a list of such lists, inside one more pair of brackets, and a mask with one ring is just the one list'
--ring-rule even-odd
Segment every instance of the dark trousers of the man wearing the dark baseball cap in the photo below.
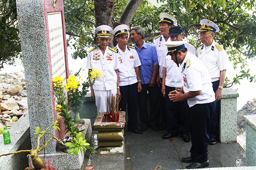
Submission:
{"label": "dark trousers of the man wearing the dark baseball cap", "polygon": [[166,129],[172,134],[185,135],[190,128],[189,105],[187,100],[171,101],[168,94],[174,90],[175,87],[165,86]]}

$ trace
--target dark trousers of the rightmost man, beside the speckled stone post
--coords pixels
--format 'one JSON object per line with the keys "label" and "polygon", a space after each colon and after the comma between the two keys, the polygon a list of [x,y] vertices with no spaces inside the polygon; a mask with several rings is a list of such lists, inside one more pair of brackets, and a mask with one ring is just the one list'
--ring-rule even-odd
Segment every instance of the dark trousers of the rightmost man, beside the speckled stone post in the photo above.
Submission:
{"label": "dark trousers of the rightmost man, beside the speckled stone post", "polygon": [[[219,80],[212,82],[213,91],[216,92],[219,88]],[[210,120],[210,138],[219,138],[219,106],[220,100],[215,101],[215,109]]]}

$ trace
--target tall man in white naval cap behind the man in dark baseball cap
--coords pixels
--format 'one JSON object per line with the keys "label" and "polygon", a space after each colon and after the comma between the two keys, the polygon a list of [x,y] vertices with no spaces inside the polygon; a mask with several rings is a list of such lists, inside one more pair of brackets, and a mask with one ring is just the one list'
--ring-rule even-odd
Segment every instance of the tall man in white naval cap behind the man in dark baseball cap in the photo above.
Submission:
{"label": "tall man in white naval cap behind the man in dark baseball cap", "polygon": [[[169,28],[173,27],[174,24],[176,24],[177,20],[169,15],[168,13],[160,13],[159,14],[160,21],[159,23],[159,30],[160,35],[157,37],[154,37],[154,46],[157,50],[157,58],[158,63],[160,62],[160,58],[162,56],[163,49],[165,45],[164,42],[171,41],[169,37]],[[157,74],[157,85],[160,87],[159,93],[160,93],[160,109],[161,109],[161,115],[162,115],[162,124],[160,125],[160,130],[165,130],[166,128],[166,109],[165,109],[165,98],[162,95],[162,79],[163,79],[163,67],[159,66],[159,73]]]}

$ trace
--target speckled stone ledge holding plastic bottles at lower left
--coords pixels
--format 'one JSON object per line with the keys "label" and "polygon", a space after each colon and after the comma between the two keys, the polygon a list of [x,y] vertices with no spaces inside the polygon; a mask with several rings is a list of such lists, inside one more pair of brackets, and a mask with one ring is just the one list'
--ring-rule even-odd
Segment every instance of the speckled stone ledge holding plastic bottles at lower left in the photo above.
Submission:
{"label": "speckled stone ledge holding plastic bottles at lower left", "polygon": [[[10,152],[16,152],[19,150],[30,150],[30,129],[29,129],[29,113],[24,113],[18,120],[20,126],[20,132],[14,133],[12,127],[9,129],[11,143],[4,145],[3,135],[0,136],[0,155]],[[23,167],[23,163],[28,166],[27,153],[19,153],[14,155],[8,155],[0,157],[0,170],[20,170]]]}

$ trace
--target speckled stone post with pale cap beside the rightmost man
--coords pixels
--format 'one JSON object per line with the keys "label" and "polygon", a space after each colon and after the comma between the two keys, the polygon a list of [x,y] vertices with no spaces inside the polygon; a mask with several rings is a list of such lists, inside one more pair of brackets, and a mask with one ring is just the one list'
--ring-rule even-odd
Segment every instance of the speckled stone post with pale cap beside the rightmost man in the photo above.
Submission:
{"label": "speckled stone post with pale cap beside the rightmost man", "polygon": [[236,98],[238,92],[232,88],[224,88],[222,91],[220,117],[219,117],[219,140],[220,142],[236,142],[237,115]]}

